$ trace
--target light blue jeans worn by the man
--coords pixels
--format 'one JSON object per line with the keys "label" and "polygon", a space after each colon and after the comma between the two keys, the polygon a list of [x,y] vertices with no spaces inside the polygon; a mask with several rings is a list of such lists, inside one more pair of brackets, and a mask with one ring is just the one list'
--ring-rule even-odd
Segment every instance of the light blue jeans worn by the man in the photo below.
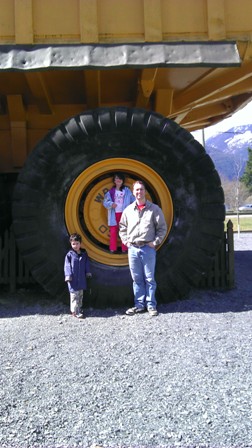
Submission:
{"label": "light blue jeans worn by the man", "polygon": [[130,246],[128,250],[129,268],[133,280],[135,306],[137,308],[156,308],[156,251],[152,247]]}

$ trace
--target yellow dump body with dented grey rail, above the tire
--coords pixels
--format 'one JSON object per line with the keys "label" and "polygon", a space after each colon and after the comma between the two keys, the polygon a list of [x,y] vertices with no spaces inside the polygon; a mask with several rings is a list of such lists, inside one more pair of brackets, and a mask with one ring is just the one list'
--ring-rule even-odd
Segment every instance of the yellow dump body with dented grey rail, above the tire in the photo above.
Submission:
{"label": "yellow dump body with dented grey rail, above the tire", "polygon": [[49,129],[90,108],[144,107],[189,131],[231,115],[251,99],[249,7],[0,1],[1,171],[19,171]]}

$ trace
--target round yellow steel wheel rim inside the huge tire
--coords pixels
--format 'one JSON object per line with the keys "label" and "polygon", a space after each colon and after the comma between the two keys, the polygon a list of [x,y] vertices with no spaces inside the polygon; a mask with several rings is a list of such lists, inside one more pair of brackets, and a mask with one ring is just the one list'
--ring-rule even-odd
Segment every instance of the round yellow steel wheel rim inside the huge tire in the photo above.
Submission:
{"label": "round yellow steel wheel rim inside the huge tire", "polygon": [[[83,247],[91,259],[111,266],[125,266],[128,264],[126,255],[111,255],[108,251],[107,210],[102,204],[104,194],[112,186],[113,172],[116,171],[126,173],[126,185],[129,187],[132,186],[134,179],[140,178],[151,188],[164,212],[168,235],[173,220],[173,204],[169,189],[152,168],[134,159],[106,159],[85,169],[69,189],[65,204],[65,221],[69,233],[77,232],[82,236]],[[111,176],[104,178],[108,174]],[[81,210],[85,220],[84,228],[79,216],[79,207],[85,192],[87,194]],[[149,194],[147,197],[150,199]]]}

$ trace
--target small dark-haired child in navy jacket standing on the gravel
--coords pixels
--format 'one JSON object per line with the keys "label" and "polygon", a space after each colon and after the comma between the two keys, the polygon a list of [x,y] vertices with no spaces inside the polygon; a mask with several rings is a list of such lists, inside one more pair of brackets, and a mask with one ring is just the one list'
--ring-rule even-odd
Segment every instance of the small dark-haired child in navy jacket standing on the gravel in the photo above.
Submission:
{"label": "small dark-haired child in navy jacket standing on the gravel", "polygon": [[65,256],[64,273],[70,293],[70,311],[82,319],[83,290],[87,289],[86,278],[92,277],[88,254],[81,249],[81,236],[73,233],[69,238],[72,249]]}

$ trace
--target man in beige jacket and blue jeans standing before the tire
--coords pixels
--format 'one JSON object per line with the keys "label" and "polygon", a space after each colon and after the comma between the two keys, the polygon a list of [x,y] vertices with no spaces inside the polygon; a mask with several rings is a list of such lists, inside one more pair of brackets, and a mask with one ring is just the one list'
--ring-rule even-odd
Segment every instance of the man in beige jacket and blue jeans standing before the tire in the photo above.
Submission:
{"label": "man in beige jacket and blue jeans standing before the tire", "polygon": [[135,301],[126,314],[132,316],[147,308],[151,316],[157,316],[156,248],[166,235],[167,225],[161,208],[146,199],[141,180],[134,183],[133,194],[136,200],[123,211],[119,224],[120,238],[128,247]]}

